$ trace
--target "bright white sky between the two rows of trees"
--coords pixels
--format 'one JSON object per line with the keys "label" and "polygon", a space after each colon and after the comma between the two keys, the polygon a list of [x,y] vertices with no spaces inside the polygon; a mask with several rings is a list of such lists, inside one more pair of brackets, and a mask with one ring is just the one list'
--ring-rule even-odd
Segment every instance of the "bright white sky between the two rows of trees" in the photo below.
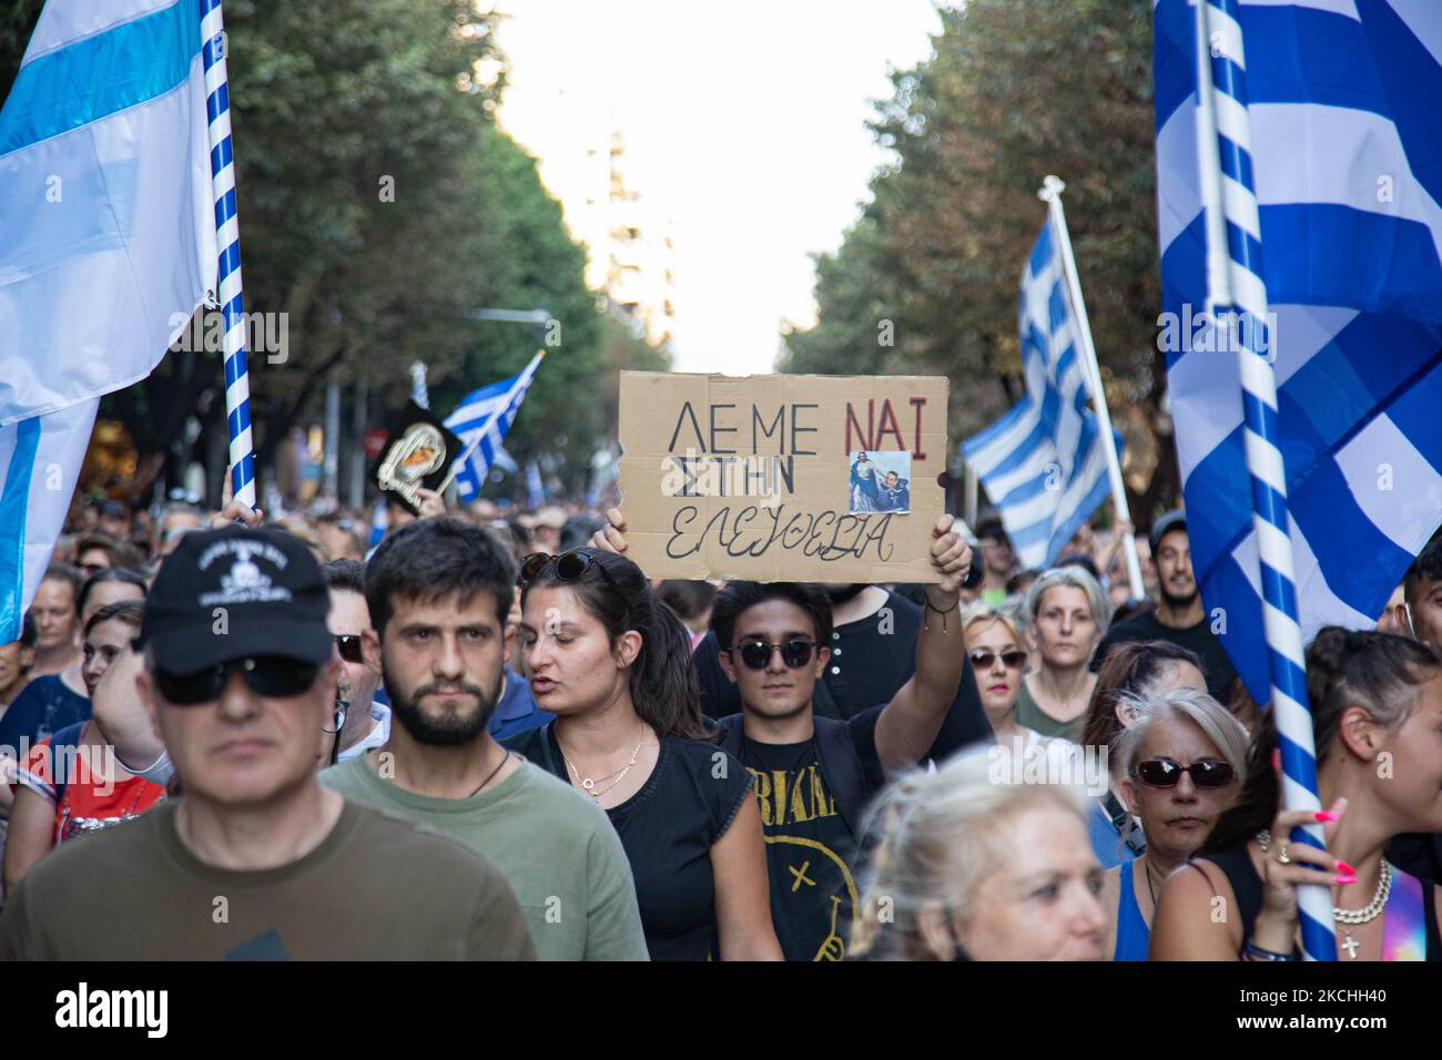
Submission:
{"label": "bright white sky between the two rows of trees", "polygon": [[[634,190],[675,221],[676,368],[771,368],[783,320],[810,323],[810,254],[835,249],[884,153],[865,121],[888,71],[940,30],[932,0],[508,0],[500,121],[522,144],[594,94]],[[564,128],[562,128],[564,131]]]}

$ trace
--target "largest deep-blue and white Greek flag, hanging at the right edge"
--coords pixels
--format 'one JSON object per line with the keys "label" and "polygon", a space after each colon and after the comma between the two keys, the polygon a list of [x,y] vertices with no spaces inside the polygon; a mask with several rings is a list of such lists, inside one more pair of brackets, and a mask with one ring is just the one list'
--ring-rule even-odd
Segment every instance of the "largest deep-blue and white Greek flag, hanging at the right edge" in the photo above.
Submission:
{"label": "largest deep-blue and white Greek flag, hanging at the right edge", "polygon": [[[1442,521],[1442,4],[1242,0],[1256,189],[1302,636],[1370,629]],[[1216,16],[1214,16],[1216,17]],[[1155,0],[1167,355],[1193,565],[1213,629],[1268,698],[1234,345],[1211,327],[1195,138],[1195,19]],[[1217,32],[1234,32],[1230,19]],[[1263,254],[1265,249],[1265,254]]]}

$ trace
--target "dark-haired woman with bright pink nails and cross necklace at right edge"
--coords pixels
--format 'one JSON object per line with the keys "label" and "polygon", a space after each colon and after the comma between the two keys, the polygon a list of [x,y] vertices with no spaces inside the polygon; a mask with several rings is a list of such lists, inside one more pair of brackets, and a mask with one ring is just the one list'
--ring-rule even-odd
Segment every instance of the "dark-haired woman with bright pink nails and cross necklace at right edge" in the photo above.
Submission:
{"label": "dark-haired woman with bright pink nails and cross necklace at right edge", "polygon": [[[1280,809],[1270,712],[1237,805],[1168,880],[1154,960],[1296,960],[1299,884],[1327,887],[1340,960],[1442,960],[1436,885],[1384,857],[1442,831],[1442,661],[1423,643],[1328,626],[1306,649],[1319,812]],[[1291,839],[1324,823],[1327,851]],[[1234,916],[1214,917],[1217,900]]]}

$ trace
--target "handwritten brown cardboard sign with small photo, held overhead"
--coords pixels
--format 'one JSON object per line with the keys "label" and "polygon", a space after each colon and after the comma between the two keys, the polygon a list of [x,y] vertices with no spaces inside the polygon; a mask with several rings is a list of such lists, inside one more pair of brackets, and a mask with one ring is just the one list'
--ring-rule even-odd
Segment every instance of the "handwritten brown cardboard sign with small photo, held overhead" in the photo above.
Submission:
{"label": "handwritten brown cardboard sign with small photo, held overhead", "polygon": [[626,555],[653,578],[936,581],[942,376],[622,372]]}

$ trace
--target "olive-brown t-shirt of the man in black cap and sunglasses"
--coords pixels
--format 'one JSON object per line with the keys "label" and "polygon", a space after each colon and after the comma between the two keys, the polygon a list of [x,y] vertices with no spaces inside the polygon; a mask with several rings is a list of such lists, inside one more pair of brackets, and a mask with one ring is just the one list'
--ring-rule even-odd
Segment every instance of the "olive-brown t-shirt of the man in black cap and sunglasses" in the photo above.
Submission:
{"label": "olive-brown t-shirt of the man in black cap and sunglasses", "polygon": [[176,811],[46,854],[0,914],[0,960],[531,960],[515,896],[474,851],[348,802],[298,861],[216,868]]}

